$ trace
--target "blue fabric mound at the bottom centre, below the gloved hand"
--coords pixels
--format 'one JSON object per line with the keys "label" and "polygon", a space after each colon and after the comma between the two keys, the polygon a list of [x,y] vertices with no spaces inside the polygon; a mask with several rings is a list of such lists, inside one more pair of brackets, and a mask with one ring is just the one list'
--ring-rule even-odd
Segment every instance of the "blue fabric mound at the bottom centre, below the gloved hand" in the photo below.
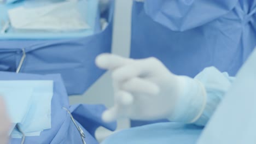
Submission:
{"label": "blue fabric mound at the bottom centre, below the gloved hand", "polygon": [[101,144],[191,144],[197,141],[201,131],[202,128],[195,125],[156,123],[118,131]]}

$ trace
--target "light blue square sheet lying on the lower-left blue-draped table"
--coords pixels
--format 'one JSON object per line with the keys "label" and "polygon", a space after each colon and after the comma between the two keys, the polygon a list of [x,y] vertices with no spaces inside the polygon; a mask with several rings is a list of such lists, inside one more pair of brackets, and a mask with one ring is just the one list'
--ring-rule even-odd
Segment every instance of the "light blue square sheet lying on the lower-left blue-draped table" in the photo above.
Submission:
{"label": "light blue square sheet lying on the lower-left blue-draped table", "polygon": [[[13,121],[13,123],[19,123],[26,136],[38,136],[41,131],[51,128],[53,81],[4,80],[0,81],[0,92],[7,100],[7,109],[11,110],[8,112],[12,112],[11,115],[21,115],[22,121]],[[19,109],[26,110],[19,113]],[[18,116],[14,118],[16,117]],[[21,119],[20,117],[19,119]],[[14,138],[20,138],[21,136],[15,129],[11,134],[11,137]]]}

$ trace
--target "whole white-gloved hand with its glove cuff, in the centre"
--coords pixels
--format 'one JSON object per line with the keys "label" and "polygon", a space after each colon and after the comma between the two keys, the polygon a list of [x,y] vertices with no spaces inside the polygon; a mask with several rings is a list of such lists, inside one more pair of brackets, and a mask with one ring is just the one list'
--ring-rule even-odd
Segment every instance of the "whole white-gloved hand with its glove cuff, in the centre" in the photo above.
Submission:
{"label": "whole white-gloved hand with its glove cuff, in the centre", "polygon": [[96,64],[112,70],[115,105],[103,113],[106,122],[124,117],[193,123],[206,105],[205,88],[199,81],[172,74],[156,58],[129,59],[103,53]]}

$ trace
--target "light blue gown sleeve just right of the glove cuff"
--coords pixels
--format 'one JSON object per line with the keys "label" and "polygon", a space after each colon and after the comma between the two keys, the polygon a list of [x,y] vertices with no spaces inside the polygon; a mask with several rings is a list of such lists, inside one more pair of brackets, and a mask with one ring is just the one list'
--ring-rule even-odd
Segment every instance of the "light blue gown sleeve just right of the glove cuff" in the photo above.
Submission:
{"label": "light blue gown sleeve just right of the glove cuff", "polygon": [[196,75],[195,79],[205,87],[207,103],[201,117],[194,124],[206,125],[235,78],[228,73],[221,73],[215,67],[208,67]]}

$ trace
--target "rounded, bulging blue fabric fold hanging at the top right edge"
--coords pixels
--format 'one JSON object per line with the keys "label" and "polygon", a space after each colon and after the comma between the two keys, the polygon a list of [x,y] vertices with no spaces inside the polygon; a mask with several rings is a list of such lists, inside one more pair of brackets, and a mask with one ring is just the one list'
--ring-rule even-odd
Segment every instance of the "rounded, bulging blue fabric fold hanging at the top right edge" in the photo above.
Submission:
{"label": "rounded, bulging blue fabric fold hanging at the top right edge", "polygon": [[237,0],[145,0],[146,14],[172,31],[202,26],[227,14]]}

